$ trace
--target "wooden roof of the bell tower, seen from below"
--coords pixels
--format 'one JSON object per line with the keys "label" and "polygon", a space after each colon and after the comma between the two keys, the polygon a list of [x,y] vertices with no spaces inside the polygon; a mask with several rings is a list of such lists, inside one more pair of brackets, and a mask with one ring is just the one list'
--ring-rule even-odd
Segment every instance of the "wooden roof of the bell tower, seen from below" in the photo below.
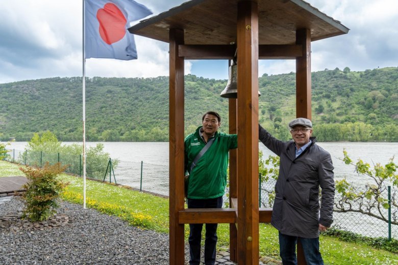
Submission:
{"label": "wooden roof of the bell tower, seen from below", "polygon": [[[185,44],[236,42],[240,0],[192,0],[129,28],[130,33],[164,42],[169,29],[184,29]],[[294,44],[296,29],[311,29],[311,41],[348,33],[337,21],[302,0],[257,0],[259,44]]]}

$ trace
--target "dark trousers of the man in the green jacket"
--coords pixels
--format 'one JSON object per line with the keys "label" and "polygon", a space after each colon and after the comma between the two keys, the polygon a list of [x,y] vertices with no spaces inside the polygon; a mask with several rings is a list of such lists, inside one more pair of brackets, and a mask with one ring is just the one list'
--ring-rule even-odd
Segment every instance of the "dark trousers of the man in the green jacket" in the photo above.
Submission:
{"label": "dark trousers of the man in the green jacket", "polygon": [[[187,199],[188,208],[221,208],[222,196],[214,199]],[[201,239],[203,224],[189,224],[189,254],[190,265],[201,262]],[[216,256],[217,224],[206,224],[205,265],[213,265]]]}

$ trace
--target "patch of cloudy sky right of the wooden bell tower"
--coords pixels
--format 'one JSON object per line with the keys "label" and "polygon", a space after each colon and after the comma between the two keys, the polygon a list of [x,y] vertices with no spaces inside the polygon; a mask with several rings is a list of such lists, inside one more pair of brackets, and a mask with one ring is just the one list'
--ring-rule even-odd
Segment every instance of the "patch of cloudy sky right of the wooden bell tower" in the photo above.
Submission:
{"label": "patch of cloudy sky right of the wooden bell tower", "polygon": [[322,12],[340,20],[350,32],[313,42],[312,56],[322,58],[318,70],[348,66],[363,71],[397,66],[398,2],[395,0],[311,1]]}

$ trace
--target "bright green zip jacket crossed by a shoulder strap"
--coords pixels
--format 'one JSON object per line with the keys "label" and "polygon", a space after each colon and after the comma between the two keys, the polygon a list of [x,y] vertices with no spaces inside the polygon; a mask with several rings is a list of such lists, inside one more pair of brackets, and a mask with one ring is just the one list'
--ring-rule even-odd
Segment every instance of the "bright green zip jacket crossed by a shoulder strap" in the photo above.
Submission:
{"label": "bright green zip jacket crossed by a shoulder strap", "polygon": [[227,186],[227,167],[230,149],[238,147],[237,135],[216,131],[214,142],[189,172],[192,161],[205,147],[198,127],[194,134],[185,138],[185,172],[189,173],[188,198],[213,199],[224,195]]}

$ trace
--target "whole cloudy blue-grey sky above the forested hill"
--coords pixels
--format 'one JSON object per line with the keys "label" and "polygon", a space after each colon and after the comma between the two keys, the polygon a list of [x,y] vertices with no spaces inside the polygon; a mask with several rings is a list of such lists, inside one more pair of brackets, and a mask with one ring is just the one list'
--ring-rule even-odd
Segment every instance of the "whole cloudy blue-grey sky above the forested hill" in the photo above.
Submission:
{"label": "whole cloudy blue-grey sky above the forested hill", "polygon": [[[186,0],[136,0],[156,15]],[[312,71],[398,66],[398,1],[307,0],[349,34],[312,43]],[[82,0],[0,0],[0,83],[82,76]],[[87,59],[86,75],[168,75],[168,45],[136,36],[138,60]],[[226,60],[186,61],[186,74],[227,79]],[[259,75],[295,71],[294,60],[261,60]]]}

